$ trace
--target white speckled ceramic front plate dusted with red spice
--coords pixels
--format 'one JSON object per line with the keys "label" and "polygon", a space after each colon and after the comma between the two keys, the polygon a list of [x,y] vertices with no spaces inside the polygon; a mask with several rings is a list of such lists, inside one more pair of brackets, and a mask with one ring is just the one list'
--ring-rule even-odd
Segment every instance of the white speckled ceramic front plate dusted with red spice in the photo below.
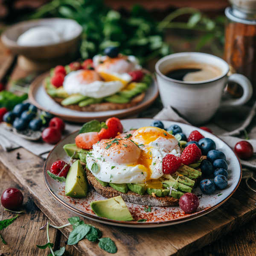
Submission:
{"label": "white speckled ceramic front plate dusted with red spice", "polygon": [[[129,131],[131,128],[140,128],[143,126],[149,126],[153,119],[126,119],[122,120],[122,125],[125,131]],[[57,160],[64,160],[66,162],[69,161],[69,157],[67,157],[63,146],[67,143],[74,143],[75,137],[78,132],[70,134],[61,142],[59,142],[55,148],[49,153],[47,160],[44,164],[44,180],[46,183],[49,192],[57,199],[61,204],[69,208],[71,211],[78,213],[79,215],[84,216],[85,218],[93,219],[94,221],[99,221],[105,224],[122,226],[122,227],[163,227],[173,224],[182,223],[185,221],[189,221],[195,218],[198,218],[202,215],[205,215],[217,207],[224,204],[228,198],[236,191],[241,181],[241,165],[236,154],[233,150],[224,143],[221,139],[216,137],[213,134],[210,134],[207,131],[196,128],[192,125],[185,125],[177,122],[170,121],[162,121],[165,128],[168,128],[172,124],[177,124],[182,128],[183,133],[186,136],[194,131],[198,130],[204,137],[210,138],[214,140],[216,143],[216,148],[222,151],[227,157],[228,163],[228,186],[223,190],[215,190],[210,195],[203,194],[199,187],[193,189],[193,193],[199,196],[200,205],[198,207],[197,212],[192,214],[185,214],[180,207],[151,207],[151,212],[145,212],[144,206],[141,204],[131,204],[127,203],[128,209],[131,211],[135,221],[115,221],[107,218],[100,218],[96,216],[92,209],[90,208],[90,202],[96,200],[104,200],[105,198],[102,195],[99,195],[94,189],[90,189],[86,198],[70,198],[65,196],[64,194],[64,183],[59,183],[56,180],[53,180],[49,175],[47,175],[47,170],[50,169],[52,163]],[[221,195],[220,195],[221,194]],[[147,219],[146,222],[137,222],[140,219]]]}

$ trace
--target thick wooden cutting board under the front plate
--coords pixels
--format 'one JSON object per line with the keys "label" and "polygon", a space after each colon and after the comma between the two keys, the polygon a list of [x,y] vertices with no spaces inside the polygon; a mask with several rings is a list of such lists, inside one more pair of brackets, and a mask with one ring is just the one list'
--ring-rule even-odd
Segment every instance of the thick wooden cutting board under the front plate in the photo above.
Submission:
{"label": "thick wooden cutting board under the front plate", "polygon": [[[16,159],[17,152],[20,159]],[[67,218],[75,216],[56,201],[44,184],[44,160],[24,148],[5,152],[0,148],[0,165],[9,175],[28,191],[35,204],[57,226],[67,224]],[[110,237],[117,246],[117,256],[186,256],[220,239],[235,230],[256,214],[256,194],[247,189],[243,181],[234,195],[221,207],[195,220],[161,228],[125,228],[101,224],[81,218],[87,224],[99,228],[103,237]],[[61,229],[68,237],[72,227]],[[97,243],[81,240],[75,245],[84,255],[108,255]]]}

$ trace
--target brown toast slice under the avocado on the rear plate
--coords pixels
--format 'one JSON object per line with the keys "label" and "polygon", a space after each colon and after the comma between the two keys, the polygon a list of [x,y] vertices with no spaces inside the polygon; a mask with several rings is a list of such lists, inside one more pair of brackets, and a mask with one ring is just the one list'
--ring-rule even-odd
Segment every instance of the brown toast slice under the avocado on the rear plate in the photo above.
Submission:
{"label": "brown toast slice under the avocado on the rear plate", "polygon": [[88,105],[85,107],[79,107],[78,104],[62,106],[61,102],[63,101],[63,99],[57,98],[57,97],[54,97],[54,98],[51,97],[51,98],[64,108],[70,108],[70,109],[73,109],[76,111],[84,111],[84,112],[99,112],[99,111],[110,111],[110,110],[131,108],[131,107],[138,105],[144,99],[144,97],[145,97],[145,91],[143,93],[140,93],[133,99],[131,99],[130,102],[125,103],[125,104],[101,102],[101,103],[91,104],[91,105]]}

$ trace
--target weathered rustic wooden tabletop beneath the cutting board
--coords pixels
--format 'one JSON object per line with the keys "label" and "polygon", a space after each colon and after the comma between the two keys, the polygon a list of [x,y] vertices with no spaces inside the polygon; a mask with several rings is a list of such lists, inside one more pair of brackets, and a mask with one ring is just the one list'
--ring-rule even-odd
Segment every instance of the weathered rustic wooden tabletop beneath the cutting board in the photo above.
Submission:
{"label": "weathered rustic wooden tabletop beneath the cutting board", "polygon": [[[14,57],[0,47],[0,81],[5,79],[6,74],[10,74],[11,79],[19,79],[27,75],[15,65],[12,65],[13,60]],[[12,158],[14,162],[17,161],[16,151],[11,151],[8,154],[8,158]],[[43,161],[38,163],[41,168],[42,162]],[[36,244],[45,244],[46,242],[46,230],[39,229],[46,223],[47,217],[35,205],[28,191],[20,188],[17,183],[12,180],[8,173],[8,166],[2,164],[0,167],[0,195],[9,187],[16,187],[23,192],[24,203],[20,210],[24,210],[24,212],[19,215],[12,225],[1,231],[1,235],[5,238],[7,244],[1,244],[0,242],[0,253],[3,253],[4,256],[47,256],[49,250],[40,250],[35,246]],[[15,214],[11,212],[5,211],[3,207],[0,206],[0,220],[12,218],[14,215]],[[227,236],[222,237],[220,233],[220,239],[192,253],[190,256],[256,255],[255,230],[256,221],[253,219],[239,229],[229,233]],[[64,242],[67,241],[67,239],[59,230],[50,229],[49,232],[51,242],[55,244],[55,250],[60,246],[64,246]],[[73,246],[66,245],[65,248],[66,256],[80,255]]]}

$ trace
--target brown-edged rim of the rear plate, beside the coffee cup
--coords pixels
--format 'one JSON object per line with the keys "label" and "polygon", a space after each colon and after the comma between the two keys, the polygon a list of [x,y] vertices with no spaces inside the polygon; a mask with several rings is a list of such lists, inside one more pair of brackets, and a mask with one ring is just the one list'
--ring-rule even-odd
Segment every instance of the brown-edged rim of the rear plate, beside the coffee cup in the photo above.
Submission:
{"label": "brown-edged rim of the rear plate, beside the coffee cup", "polygon": [[[148,70],[143,69],[146,73],[150,73]],[[97,119],[101,120],[101,119],[106,119],[109,118],[111,116],[116,116],[119,118],[122,117],[126,117],[126,116],[131,116],[135,113],[141,112],[143,111],[145,108],[148,108],[150,105],[152,105],[154,103],[154,101],[157,99],[157,96],[159,95],[159,90],[158,90],[158,85],[157,85],[157,80],[154,76],[154,73],[152,74],[152,79],[153,79],[153,86],[154,86],[154,90],[155,93],[152,93],[152,95],[150,96],[150,98],[145,101],[145,102],[140,102],[138,105],[135,105],[134,107],[131,108],[124,108],[124,109],[120,109],[117,111],[120,111],[119,113],[115,113],[115,114],[109,114],[110,111],[99,111],[99,112],[86,112],[86,111],[80,111],[83,112],[85,114],[85,116],[70,116],[70,115],[65,115],[63,113],[55,113],[54,110],[49,110],[44,108],[42,105],[40,105],[34,98],[33,93],[35,93],[36,90],[38,90],[38,88],[41,86],[41,82],[47,77],[49,76],[50,70],[46,71],[45,73],[39,75],[34,81],[32,81],[32,83],[29,86],[29,92],[28,92],[28,96],[29,96],[29,100],[32,102],[33,105],[35,105],[37,108],[40,108],[46,112],[49,112],[55,116],[61,117],[64,120],[67,121],[73,121],[73,122],[87,122],[93,119],[92,116],[86,116],[86,113],[99,113],[99,112],[104,112],[104,114],[102,114],[101,116],[96,116]],[[53,99],[51,99],[53,100]],[[63,107],[64,108],[64,107]],[[65,108],[64,108],[65,109]],[[112,111],[112,110],[111,110]]]}

